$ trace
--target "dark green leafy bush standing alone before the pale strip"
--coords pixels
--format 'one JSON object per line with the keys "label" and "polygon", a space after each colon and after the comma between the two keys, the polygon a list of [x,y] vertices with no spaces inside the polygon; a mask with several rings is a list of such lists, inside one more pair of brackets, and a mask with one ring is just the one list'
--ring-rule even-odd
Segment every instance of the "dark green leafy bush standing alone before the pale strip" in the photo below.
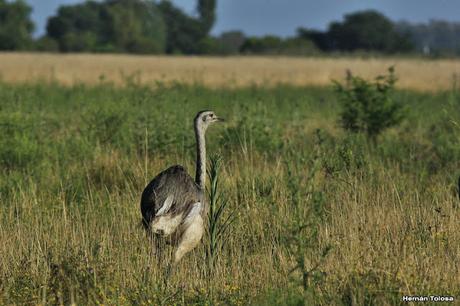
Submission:
{"label": "dark green leafy bush standing alone before the pale strip", "polygon": [[398,125],[404,118],[403,107],[392,98],[396,83],[394,68],[369,82],[348,73],[345,85],[334,82],[342,104],[340,123],[351,132],[365,133],[376,141],[385,129]]}

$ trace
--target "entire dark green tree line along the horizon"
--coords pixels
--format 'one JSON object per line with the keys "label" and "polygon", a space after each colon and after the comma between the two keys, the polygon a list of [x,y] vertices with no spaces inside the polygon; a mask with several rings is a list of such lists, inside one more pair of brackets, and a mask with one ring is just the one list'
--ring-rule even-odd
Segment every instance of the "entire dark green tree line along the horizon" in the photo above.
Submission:
{"label": "entire dark green tree line along the horizon", "polygon": [[0,50],[138,54],[284,54],[328,52],[437,53],[460,55],[460,23],[394,23],[374,10],[330,23],[325,31],[299,28],[292,37],[210,35],[216,0],[197,0],[190,16],[167,0],[104,0],[62,5],[46,34],[33,38],[31,7],[0,0]]}

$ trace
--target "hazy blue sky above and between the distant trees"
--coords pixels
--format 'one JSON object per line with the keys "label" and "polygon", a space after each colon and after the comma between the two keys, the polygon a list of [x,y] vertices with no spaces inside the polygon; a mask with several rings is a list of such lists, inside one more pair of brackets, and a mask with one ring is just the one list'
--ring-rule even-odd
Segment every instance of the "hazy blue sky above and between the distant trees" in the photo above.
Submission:
{"label": "hazy blue sky above and between the distant trees", "polygon": [[[62,4],[82,0],[26,0],[34,9],[35,35],[45,31],[46,20]],[[195,0],[173,0],[186,12],[195,13]],[[430,19],[460,21],[459,0],[217,0],[213,33],[240,29],[249,35],[289,36],[299,26],[325,29],[345,13],[377,9],[393,20],[426,22]]]}

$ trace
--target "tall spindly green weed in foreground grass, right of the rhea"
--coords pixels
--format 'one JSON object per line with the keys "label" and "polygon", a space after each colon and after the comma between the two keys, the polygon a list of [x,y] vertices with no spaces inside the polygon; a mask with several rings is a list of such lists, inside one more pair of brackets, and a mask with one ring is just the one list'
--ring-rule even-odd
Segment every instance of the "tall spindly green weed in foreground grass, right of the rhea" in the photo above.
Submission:
{"label": "tall spindly green weed in foreground grass, right of the rhea", "polygon": [[[319,228],[327,215],[325,193],[315,182],[322,169],[321,143],[321,134],[317,130],[313,155],[307,157],[290,152],[291,162],[286,163],[287,187],[294,216],[287,225],[285,237],[287,250],[294,261],[289,274],[295,284],[301,285],[305,302],[320,298],[319,288],[325,276],[321,265],[332,249],[330,244],[321,245],[319,241]],[[305,169],[308,169],[307,173]]]}

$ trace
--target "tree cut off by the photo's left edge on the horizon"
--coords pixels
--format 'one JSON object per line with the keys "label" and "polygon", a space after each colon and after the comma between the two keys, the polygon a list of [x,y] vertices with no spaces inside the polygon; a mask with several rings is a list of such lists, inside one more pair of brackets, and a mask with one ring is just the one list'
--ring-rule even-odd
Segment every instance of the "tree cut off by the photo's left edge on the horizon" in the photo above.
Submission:
{"label": "tree cut off by the photo's left edge on the horizon", "polygon": [[26,50],[32,46],[31,7],[23,0],[0,0],[0,50]]}

